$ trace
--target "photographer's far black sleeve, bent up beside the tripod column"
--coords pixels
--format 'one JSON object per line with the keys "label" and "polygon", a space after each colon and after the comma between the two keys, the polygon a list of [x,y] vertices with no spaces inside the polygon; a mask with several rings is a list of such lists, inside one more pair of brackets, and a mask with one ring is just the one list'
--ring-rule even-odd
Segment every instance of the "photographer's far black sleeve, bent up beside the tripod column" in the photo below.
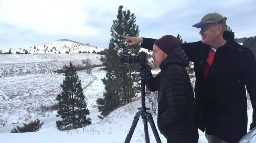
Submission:
{"label": "photographer's far black sleeve, bent up beside the tripod column", "polygon": [[152,92],[159,90],[160,74],[161,72],[158,73],[155,77],[153,77],[151,71],[146,72],[145,85],[148,90]]}

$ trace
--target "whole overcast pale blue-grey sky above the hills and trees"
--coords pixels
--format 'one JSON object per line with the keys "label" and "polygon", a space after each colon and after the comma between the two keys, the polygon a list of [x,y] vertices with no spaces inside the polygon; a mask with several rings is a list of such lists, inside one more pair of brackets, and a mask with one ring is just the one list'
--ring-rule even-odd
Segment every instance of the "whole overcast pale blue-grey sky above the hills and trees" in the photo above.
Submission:
{"label": "whole overcast pale blue-grey sky above the hills and trees", "polygon": [[199,31],[191,25],[210,12],[226,16],[236,37],[256,36],[255,0],[0,0],[0,50],[58,39],[107,48],[120,5],[136,16],[140,37],[179,33],[187,42],[199,41]]}

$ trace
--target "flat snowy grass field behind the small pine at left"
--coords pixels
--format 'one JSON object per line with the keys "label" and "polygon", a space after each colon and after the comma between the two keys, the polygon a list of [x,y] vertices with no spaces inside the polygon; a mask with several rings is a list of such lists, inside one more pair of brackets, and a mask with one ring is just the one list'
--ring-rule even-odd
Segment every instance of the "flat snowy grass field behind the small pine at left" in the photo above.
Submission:
{"label": "flat snowy grass field behind the small pine at left", "polygon": [[[86,71],[78,71],[78,76],[81,79],[83,89],[85,89],[84,94],[90,99],[89,101],[96,100],[97,96],[87,94],[89,89],[86,86],[96,78],[101,77],[96,77],[93,74],[88,75]],[[44,106],[50,107],[57,103],[55,98],[62,92],[60,84],[64,79],[65,76],[63,74],[2,78],[2,83],[0,84],[0,93],[2,94],[0,119],[7,123],[17,123],[27,121],[32,118],[31,116],[47,116],[47,112],[42,112],[41,108]],[[92,101],[89,104],[93,105],[94,103]]]}

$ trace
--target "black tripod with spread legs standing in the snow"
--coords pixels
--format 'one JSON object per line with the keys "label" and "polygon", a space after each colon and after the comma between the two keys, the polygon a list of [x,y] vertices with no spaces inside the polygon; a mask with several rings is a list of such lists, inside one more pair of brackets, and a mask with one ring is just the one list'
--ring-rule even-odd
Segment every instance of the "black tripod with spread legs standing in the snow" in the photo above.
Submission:
{"label": "black tripod with spread legs standing in the snow", "polygon": [[139,121],[140,116],[143,119],[146,143],[150,143],[150,138],[148,136],[147,121],[150,122],[150,126],[151,126],[151,129],[153,131],[153,134],[155,136],[155,139],[156,139],[157,143],[161,143],[161,140],[160,140],[160,137],[158,135],[154,120],[152,118],[152,115],[148,111],[150,109],[145,107],[146,103],[145,103],[145,72],[144,72],[144,69],[145,69],[145,62],[144,63],[141,62],[140,63],[140,79],[141,79],[141,104],[142,105],[141,105],[141,108],[138,108],[139,111],[134,116],[132,126],[129,130],[129,133],[128,133],[126,139],[125,139],[125,143],[130,142],[130,140],[132,138],[132,135],[133,135],[133,132],[135,130],[135,127],[136,127],[136,125]]}

